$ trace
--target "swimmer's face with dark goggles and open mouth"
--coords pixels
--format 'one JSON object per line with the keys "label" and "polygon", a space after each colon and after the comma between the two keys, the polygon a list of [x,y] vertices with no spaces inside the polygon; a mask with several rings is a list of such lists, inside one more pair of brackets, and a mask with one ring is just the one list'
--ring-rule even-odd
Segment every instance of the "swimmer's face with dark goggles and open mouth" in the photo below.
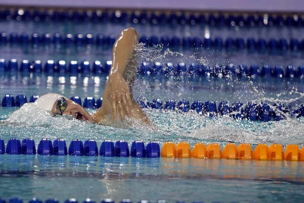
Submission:
{"label": "swimmer's face with dark goggles and open mouth", "polygon": [[51,110],[53,116],[57,114],[71,115],[78,120],[93,122],[93,117],[81,105],[67,98],[64,98],[64,100],[64,102],[62,102],[62,98],[56,100]]}

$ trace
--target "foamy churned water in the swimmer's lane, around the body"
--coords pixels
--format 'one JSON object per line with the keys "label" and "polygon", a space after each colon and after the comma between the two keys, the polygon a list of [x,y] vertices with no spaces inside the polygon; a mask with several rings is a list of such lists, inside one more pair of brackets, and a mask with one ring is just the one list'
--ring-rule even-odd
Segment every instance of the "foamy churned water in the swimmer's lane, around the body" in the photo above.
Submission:
{"label": "foamy churned water in the swimmer's lane, around the body", "polygon": [[[91,110],[92,112],[93,110]],[[128,129],[119,129],[82,122],[65,117],[52,117],[34,104],[25,104],[14,111],[9,118],[1,121],[0,134],[3,139],[10,137],[32,137],[36,142],[42,138],[157,141],[188,141],[192,146],[197,142],[236,143],[304,143],[303,119],[288,118],[281,121],[235,120],[229,116],[206,117],[194,112],[179,113],[145,109],[157,130],[151,130],[136,120],[131,120]],[[34,112],[34,113],[33,113]],[[37,144],[37,143],[36,143]]]}

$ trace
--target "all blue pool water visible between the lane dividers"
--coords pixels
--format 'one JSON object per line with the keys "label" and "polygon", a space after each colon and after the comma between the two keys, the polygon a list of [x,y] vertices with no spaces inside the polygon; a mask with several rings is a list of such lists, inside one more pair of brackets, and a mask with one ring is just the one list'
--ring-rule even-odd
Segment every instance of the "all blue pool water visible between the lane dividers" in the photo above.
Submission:
{"label": "all blue pool water visible between the lane dividers", "polygon": [[[302,28],[218,28],[190,26],[153,26],[136,24],[94,24],[84,23],[40,23],[27,21],[1,21],[6,32],[60,32],[86,33],[103,32],[117,34],[122,29],[134,26],[140,35],[163,35],[174,33],[178,36],[244,36],[244,37],[299,37]],[[278,29],[280,29],[278,31]],[[207,31],[208,30],[208,31]],[[22,47],[20,45],[0,46],[1,56],[9,60],[16,58],[42,60],[52,59],[93,62],[110,60],[110,48],[97,47]],[[173,52],[176,51],[176,52]],[[159,52],[158,48],[144,50],[139,62],[161,63],[197,62],[209,65],[257,64],[302,65],[301,52],[258,53],[238,50],[178,49]],[[178,52],[178,53],[177,53]],[[180,54],[181,53],[181,54]],[[24,94],[43,95],[59,93],[67,97],[95,97],[102,95],[106,75],[90,74],[47,74],[3,72],[0,74],[1,97]],[[249,101],[255,103],[284,103],[298,107],[303,101],[303,80],[300,78],[217,78],[217,77],[171,77],[143,76],[138,74],[134,95],[136,100],[162,101],[186,99],[195,100]],[[126,140],[130,144],[141,140],[163,145],[166,141],[186,141],[193,146],[217,142],[223,148],[226,143],[280,143],[304,146],[304,119],[287,115],[280,121],[235,120],[230,116],[206,117],[196,112],[180,113],[157,109],[144,109],[157,131],[129,119],[126,129],[89,124],[63,117],[51,117],[32,104],[18,107],[0,107],[0,137],[6,142],[33,138],[37,145],[42,138],[55,140],[63,138],[67,144],[72,139],[82,141],[94,139],[98,147],[103,140]],[[95,109],[88,109],[94,112]],[[304,198],[304,165],[292,161],[255,161],[229,159],[195,158],[120,158],[120,157],[74,157],[42,155],[0,155],[0,197],[18,196],[24,200],[37,197],[43,200],[57,197],[60,202],[74,197],[79,201],[93,198],[99,201],[112,198],[120,201],[130,198],[136,202],[147,199],[156,202],[180,201],[221,201],[221,202],[300,202]]]}

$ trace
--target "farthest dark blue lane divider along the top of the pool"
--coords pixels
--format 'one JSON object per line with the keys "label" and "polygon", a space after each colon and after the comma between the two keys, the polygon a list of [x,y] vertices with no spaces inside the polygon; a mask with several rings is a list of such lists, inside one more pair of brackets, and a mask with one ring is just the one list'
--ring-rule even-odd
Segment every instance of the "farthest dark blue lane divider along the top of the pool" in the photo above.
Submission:
{"label": "farthest dark blue lane divider along the top of the pool", "polygon": [[[146,11],[141,11],[140,13],[130,11],[73,11],[71,13],[66,11],[48,11],[48,10],[19,10],[11,11],[10,9],[4,8],[1,10],[2,19],[6,20],[34,20],[34,21],[45,21],[53,20],[55,22],[60,21],[72,21],[72,22],[81,22],[81,21],[92,21],[92,22],[111,22],[111,23],[126,23],[131,22],[134,24],[171,24],[171,25],[202,25],[208,24],[210,26],[294,26],[301,27],[303,26],[303,20],[301,16],[293,15],[283,17],[277,15],[276,18],[272,14],[264,15],[260,14],[258,16],[248,15],[214,15],[209,14],[205,16],[205,13],[193,14],[188,12],[171,12],[170,14],[166,13],[147,13]],[[48,36],[43,40],[48,40]],[[86,39],[88,40],[88,39]]]}

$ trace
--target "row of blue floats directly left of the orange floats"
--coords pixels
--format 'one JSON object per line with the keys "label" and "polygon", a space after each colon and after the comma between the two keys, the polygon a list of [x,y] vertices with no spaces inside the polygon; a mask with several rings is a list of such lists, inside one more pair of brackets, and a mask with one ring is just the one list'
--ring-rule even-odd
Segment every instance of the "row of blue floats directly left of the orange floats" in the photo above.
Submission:
{"label": "row of blue floats directly left of the orange floats", "polygon": [[[20,140],[16,138],[11,138],[5,150],[5,142],[0,138],[0,155],[1,154],[36,154],[35,142],[31,138],[26,138]],[[72,156],[117,156],[117,157],[147,157],[147,158],[157,158],[160,157],[160,145],[157,142],[150,142],[144,146],[141,141],[134,141],[131,145],[131,153],[129,151],[129,146],[126,141],[120,140],[116,144],[110,140],[104,140],[99,148],[95,140],[89,139],[85,143],[78,139],[73,139],[70,142],[69,148],[67,150],[66,142],[64,139],[56,139],[52,143],[51,140],[43,138],[37,147],[37,154],[39,155],[72,155]]]}

